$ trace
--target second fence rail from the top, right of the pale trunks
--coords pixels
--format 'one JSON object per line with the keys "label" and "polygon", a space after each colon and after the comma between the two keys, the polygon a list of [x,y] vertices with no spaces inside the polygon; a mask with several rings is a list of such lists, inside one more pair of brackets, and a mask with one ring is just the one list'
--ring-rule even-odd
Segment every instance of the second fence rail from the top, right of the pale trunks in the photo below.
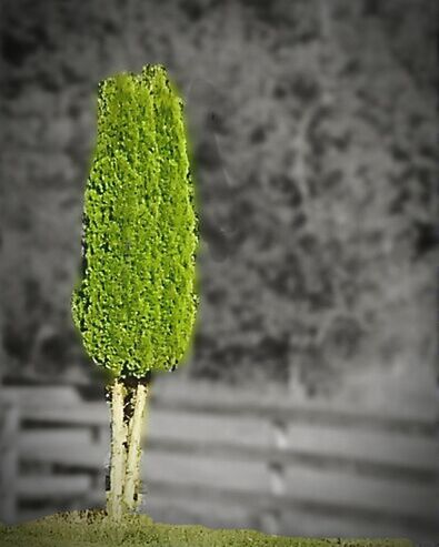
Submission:
{"label": "second fence rail from the top, right of the pale trunks", "polygon": [[[273,428],[263,418],[193,416],[189,413],[152,408],[148,427],[149,444],[153,439],[182,439],[202,448],[209,443],[237,443],[241,447],[272,447]],[[147,439],[148,446],[148,439]],[[296,453],[319,454],[322,457],[343,456],[372,464],[405,466],[412,470],[428,470],[439,475],[439,443],[433,438],[419,440],[401,433],[346,429],[342,425],[319,424],[288,426],[282,445]],[[281,449],[281,447],[280,447]],[[243,452],[243,450],[242,450]]]}

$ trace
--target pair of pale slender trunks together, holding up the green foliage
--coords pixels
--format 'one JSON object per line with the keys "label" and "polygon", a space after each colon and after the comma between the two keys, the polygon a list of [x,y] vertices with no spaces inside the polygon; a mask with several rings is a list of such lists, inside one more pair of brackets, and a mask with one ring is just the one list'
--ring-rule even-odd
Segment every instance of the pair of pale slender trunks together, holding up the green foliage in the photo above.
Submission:
{"label": "pair of pale slender trunks together, holding up the green foliage", "polygon": [[[127,395],[132,412],[126,413]],[[142,434],[147,407],[147,386],[138,384],[129,392],[114,382],[111,391],[111,460],[110,492],[107,513],[120,520],[126,513],[134,513],[140,503],[140,464]]]}

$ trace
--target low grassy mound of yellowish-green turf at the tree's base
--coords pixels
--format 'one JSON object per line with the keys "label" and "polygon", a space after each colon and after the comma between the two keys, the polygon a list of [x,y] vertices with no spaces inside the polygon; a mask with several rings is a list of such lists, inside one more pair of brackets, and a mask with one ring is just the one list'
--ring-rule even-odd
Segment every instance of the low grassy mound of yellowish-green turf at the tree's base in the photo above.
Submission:
{"label": "low grassy mound of yellowish-green turf at the tree's base", "polygon": [[156,524],[144,515],[116,524],[103,511],[61,513],[20,526],[0,526],[0,547],[412,547],[406,539],[305,539],[255,530]]}

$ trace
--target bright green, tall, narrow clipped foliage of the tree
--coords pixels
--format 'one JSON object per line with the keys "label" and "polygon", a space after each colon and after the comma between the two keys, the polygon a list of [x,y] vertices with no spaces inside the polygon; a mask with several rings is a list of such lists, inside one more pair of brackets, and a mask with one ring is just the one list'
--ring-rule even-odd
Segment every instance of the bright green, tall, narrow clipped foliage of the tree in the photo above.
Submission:
{"label": "bright green, tall, narrow clipped foliage of the tree", "polygon": [[198,236],[186,141],[162,67],[101,82],[72,314],[88,354],[116,376],[170,369],[188,351]]}

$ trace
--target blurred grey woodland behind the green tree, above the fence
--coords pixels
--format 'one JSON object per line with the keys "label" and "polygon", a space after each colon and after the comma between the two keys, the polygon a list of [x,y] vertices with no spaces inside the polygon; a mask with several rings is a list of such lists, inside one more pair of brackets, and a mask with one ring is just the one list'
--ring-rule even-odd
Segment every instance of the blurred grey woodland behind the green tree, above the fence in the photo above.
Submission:
{"label": "blurred grey woodland behind the green tree, above the fence", "polygon": [[97,84],[162,63],[201,217],[174,382],[437,412],[435,0],[6,0],[0,18],[4,392],[103,394],[70,316]]}

